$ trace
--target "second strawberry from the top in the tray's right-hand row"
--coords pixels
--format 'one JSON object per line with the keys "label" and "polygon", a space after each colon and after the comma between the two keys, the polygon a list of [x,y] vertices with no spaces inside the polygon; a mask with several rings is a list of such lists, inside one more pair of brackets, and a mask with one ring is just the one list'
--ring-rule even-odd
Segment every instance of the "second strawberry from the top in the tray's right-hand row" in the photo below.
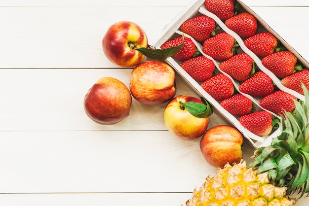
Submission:
{"label": "second strawberry from the top in the tray's right-hand row", "polygon": [[225,25],[241,37],[249,37],[258,29],[257,19],[250,13],[237,14],[225,21]]}

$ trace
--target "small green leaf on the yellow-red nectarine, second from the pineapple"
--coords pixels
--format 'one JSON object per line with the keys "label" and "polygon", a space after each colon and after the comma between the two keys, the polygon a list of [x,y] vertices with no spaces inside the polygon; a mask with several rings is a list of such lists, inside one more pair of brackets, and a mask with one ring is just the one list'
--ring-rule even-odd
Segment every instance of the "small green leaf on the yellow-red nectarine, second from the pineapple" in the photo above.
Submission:
{"label": "small green leaf on the yellow-red nectarine, second from the pineapple", "polygon": [[201,97],[203,103],[197,102],[179,102],[182,110],[187,109],[190,114],[198,118],[207,118],[212,114],[209,103]]}

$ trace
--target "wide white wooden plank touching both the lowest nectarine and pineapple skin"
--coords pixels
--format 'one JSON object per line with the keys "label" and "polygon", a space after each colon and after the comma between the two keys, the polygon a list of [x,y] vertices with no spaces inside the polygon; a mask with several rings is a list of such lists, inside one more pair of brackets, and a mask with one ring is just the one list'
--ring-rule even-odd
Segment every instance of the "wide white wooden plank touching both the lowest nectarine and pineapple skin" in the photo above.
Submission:
{"label": "wide white wooden plank touching both the lowest nectarine and pineapple skin", "polygon": [[0,132],[0,165],[0,193],[192,192],[216,173],[168,131]]}

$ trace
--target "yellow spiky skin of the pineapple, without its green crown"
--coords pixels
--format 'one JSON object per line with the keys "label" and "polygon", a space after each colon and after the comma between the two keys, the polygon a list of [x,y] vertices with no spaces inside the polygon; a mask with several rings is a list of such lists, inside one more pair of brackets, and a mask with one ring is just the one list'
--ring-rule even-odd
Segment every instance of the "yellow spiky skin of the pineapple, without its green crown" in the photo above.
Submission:
{"label": "yellow spiky skin of the pineapple, without its green crown", "polygon": [[293,206],[296,200],[286,196],[285,187],[270,183],[268,173],[256,174],[245,161],[229,163],[213,177],[206,177],[194,189],[186,206]]}

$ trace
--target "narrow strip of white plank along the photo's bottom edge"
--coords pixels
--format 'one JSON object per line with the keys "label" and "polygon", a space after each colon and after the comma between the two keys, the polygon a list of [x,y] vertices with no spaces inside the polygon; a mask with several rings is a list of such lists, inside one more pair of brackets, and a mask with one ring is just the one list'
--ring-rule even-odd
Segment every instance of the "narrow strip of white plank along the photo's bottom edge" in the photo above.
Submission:
{"label": "narrow strip of white plank along the photo's bottom edge", "polygon": [[180,206],[191,193],[0,194],[2,206]]}

